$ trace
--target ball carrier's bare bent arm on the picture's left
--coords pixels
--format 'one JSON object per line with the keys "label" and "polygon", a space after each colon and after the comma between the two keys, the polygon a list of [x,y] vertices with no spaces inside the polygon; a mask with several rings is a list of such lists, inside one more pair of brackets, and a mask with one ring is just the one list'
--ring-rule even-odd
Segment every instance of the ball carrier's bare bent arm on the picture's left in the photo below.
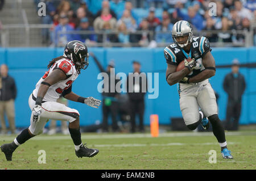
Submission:
{"label": "ball carrier's bare bent arm on the picture's left", "polygon": [[184,68],[180,71],[176,71],[177,66],[167,64],[167,70],[166,70],[166,81],[168,82],[168,85],[172,86],[175,85],[175,83],[179,82],[185,75],[189,73],[188,68]]}

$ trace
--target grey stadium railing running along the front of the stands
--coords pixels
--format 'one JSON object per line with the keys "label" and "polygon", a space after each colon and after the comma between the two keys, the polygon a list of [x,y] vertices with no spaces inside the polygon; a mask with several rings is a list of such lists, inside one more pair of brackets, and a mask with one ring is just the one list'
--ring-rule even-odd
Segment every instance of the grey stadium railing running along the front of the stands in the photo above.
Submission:
{"label": "grey stadium railing running along the front of the stands", "polygon": [[[102,35],[103,41],[102,43],[93,43],[88,44],[90,47],[148,47],[150,45],[150,41],[146,44],[139,44],[139,43],[113,43],[110,41],[107,41],[106,37],[108,34],[118,33],[117,31],[112,32],[106,32],[106,31],[65,31],[65,32],[57,32],[57,35],[55,35],[55,31],[52,31],[53,26],[51,24],[28,24],[26,23],[26,14],[23,14],[23,24],[5,24],[3,25],[1,32],[1,41],[0,45],[1,47],[58,47],[58,45],[55,44],[47,44],[42,43],[44,38],[42,36],[42,32],[46,33],[46,31],[51,32],[52,39],[54,40],[57,36],[58,38],[61,36],[61,34],[77,34],[80,35],[90,35],[90,34],[96,34],[96,35]],[[231,33],[231,34],[241,34],[245,37],[245,40],[242,42],[210,42],[212,47],[251,47],[254,44],[254,31],[256,28],[256,24],[252,24],[250,31],[247,30],[240,30],[240,31],[225,31],[225,33]],[[154,32],[152,31],[136,31],[136,32],[130,32],[130,34],[142,34],[144,32],[148,32],[150,35],[150,39],[154,40]],[[169,33],[171,36],[171,31],[168,32],[158,32],[158,33]],[[200,32],[194,32],[194,35],[196,36],[207,36],[209,34],[218,34],[223,33],[221,30],[214,30],[214,31],[200,31]],[[50,40],[50,37],[48,37],[48,42]],[[166,43],[156,43],[155,46],[157,47],[165,47],[169,45],[170,42]],[[63,46],[63,45],[61,45]]]}

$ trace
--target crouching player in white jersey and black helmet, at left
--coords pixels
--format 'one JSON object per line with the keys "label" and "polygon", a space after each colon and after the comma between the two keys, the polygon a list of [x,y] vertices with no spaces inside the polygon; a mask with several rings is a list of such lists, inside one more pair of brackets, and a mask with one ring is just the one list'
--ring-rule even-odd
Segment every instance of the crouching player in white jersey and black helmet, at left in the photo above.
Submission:
{"label": "crouching player in white jersey and black helmet, at left", "polygon": [[82,144],[79,112],[56,100],[63,95],[68,100],[87,104],[98,108],[101,101],[93,97],[83,98],[72,92],[72,83],[80,74],[81,69],[89,65],[87,47],[81,41],[69,41],[63,56],[53,58],[49,62],[48,71],[36,83],[36,88],[28,99],[31,108],[30,127],[24,129],[13,142],[1,146],[7,161],[12,160],[14,150],[30,138],[40,134],[48,119],[69,121],[69,133],[75,144],[77,157],[93,157],[98,149],[89,149]]}

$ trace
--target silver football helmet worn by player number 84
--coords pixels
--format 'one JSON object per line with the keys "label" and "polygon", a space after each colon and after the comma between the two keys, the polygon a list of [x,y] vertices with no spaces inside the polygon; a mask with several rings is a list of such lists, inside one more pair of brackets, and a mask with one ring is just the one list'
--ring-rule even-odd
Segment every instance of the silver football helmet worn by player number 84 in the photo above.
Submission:
{"label": "silver football helmet worn by player number 84", "polygon": [[[176,40],[177,36],[185,36],[188,35],[188,39],[184,43],[179,43]],[[177,47],[184,48],[189,43],[192,42],[193,39],[193,32],[192,32],[192,26],[190,23],[184,20],[180,20],[179,22],[176,22],[174,24],[174,27],[172,28],[172,39],[174,39],[174,43],[177,45]]]}

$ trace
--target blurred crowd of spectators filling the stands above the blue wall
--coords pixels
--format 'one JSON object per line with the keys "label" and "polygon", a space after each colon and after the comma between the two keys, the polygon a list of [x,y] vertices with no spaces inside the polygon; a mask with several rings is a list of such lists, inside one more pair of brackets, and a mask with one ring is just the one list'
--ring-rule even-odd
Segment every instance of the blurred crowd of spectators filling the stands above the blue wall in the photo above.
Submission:
{"label": "blurred crowd of spectators filling the stands above the blue wall", "polygon": [[[37,5],[43,0],[34,1]],[[256,22],[254,0],[44,0],[43,2],[46,3],[47,15],[42,17],[42,23],[52,24],[51,30],[43,30],[43,39],[45,43],[50,41],[55,46],[63,46],[67,41],[74,39],[90,45],[103,41],[137,43],[140,46],[152,42],[171,43],[170,31],[178,20],[187,20],[197,32],[222,30],[220,33],[207,33],[205,36],[210,42],[244,43],[244,35],[236,33],[236,30],[249,30],[250,25]],[[216,6],[209,5],[211,2],[215,2]],[[138,9],[147,10],[147,15],[136,11]],[[155,14],[158,9],[162,9],[160,16]],[[72,33],[67,33],[68,31]],[[108,32],[108,35],[103,36],[100,32]]]}

